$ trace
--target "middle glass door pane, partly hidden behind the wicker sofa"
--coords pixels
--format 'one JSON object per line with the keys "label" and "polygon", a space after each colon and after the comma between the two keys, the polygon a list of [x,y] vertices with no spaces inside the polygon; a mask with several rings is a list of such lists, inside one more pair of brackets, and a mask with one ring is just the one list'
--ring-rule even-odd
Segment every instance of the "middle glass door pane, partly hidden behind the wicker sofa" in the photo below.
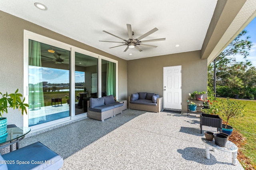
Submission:
{"label": "middle glass door pane, partly hidden behind the wicker sofa", "polygon": [[75,53],[76,115],[87,112],[87,101],[98,95],[98,59]]}

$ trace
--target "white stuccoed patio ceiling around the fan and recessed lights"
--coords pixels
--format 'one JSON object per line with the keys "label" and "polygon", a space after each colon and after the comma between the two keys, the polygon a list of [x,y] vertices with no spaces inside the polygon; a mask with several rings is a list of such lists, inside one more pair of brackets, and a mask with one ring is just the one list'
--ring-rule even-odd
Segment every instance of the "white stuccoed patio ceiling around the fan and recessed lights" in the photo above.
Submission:
{"label": "white stuccoed patio ceiling around the fan and recessed lights", "polygon": [[[39,10],[35,2],[44,4],[48,10]],[[217,0],[1,0],[0,10],[132,60],[200,50],[216,3]],[[99,41],[122,41],[103,30],[128,39],[127,23],[132,25],[134,39],[157,27],[158,31],[142,40],[166,38],[166,41],[144,43],[158,47],[139,46],[142,52],[135,48],[123,52],[125,45],[110,49],[122,44]],[[180,46],[175,47],[177,44]]]}

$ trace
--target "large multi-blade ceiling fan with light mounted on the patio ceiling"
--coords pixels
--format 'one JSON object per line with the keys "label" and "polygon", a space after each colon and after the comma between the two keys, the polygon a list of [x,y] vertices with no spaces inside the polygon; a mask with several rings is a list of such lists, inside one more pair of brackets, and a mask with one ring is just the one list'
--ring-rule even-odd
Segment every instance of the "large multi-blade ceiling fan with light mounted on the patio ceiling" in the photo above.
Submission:
{"label": "large multi-blade ceiling fan with light mounted on the patio ceiling", "polygon": [[[138,46],[143,46],[143,47],[153,47],[153,48],[156,48],[157,46],[155,45],[148,45],[148,44],[143,44],[143,43],[148,43],[148,42],[153,42],[153,41],[165,41],[165,38],[159,38],[159,39],[149,39],[149,40],[144,40],[144,41],[141,41],[141,39],[147,37],[148,35],[156,32],[158,29],[157,28],[154,28],[150,31],[148,31],[147,33],[141,35],[140,37],[134,39],[132,38],[132,35],[134,35],[134,32],[132,31],[132,25],[130,24],[126,24],[127,25],[127,30],[128,30],[128,37],[129,39],[126,40],[126,39],[123,39],[121,37],[118,37],[112,33],[109,33],[107,31],[103,31],[105,33],[108,33],[114,37],[117,37],[119,39],[122,39],[124,42],[116,42],[116,41],[102,41],[102,42],[111,42],[111,43],[124,43],[122,45],[118,45],[118,46],[115,46],[115,47],[120,47],[120,46],[123,46],[123,45],[127,45],[126,49],[124,50],[124,52],[126,52],[129,48],[136,48],[138,51],[142,51],[142,49],[140,49]],[[114,48],[114,47],[110,47],[111,48]]]}

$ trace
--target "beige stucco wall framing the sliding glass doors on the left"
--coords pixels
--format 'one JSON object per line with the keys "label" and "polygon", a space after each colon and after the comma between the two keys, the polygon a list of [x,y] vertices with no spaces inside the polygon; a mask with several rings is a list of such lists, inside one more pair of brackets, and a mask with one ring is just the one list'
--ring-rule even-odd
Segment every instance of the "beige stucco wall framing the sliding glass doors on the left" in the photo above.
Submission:
{"label": "beige stucco wall framing the sliding glass doors on the left", "polygon": [[[73,45],[75,47],[91,51],[118,61],[118,98],[127,98],[127,61],[110,55],[74,39],[70,39],[34,23],[22,20],[10,14],[0,11],[0,92],[23,92],[23,34],[24,29]],[[23,125],[23,117],[20,113],[12,111],[5,114],[8,117],[8,124]],[[14,116],[15,114],[15,116]]]}

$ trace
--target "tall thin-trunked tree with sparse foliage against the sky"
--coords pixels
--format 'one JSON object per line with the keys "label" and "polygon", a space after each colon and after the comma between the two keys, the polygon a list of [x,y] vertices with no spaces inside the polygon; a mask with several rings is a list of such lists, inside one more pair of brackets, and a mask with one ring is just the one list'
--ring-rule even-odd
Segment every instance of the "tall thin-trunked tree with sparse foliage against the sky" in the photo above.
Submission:
{"label": "tall thin-trunked tree with sparse foliage against the sky", "polygon": [[[245,37],[247,31],[243,30],[236,38],[222,51],[211,63],[213,74],[213,91],[216,97],[216,80],[217,77],[225,77],[229,74],[230,70],[234,68],[246,69],[250,65],[249,61],[236,62],[234,55],[242,55],[244,59],[249,55],[249,51],[252,48],[252,42],[249,41],[249,36]],[[245,38],[245,39],[244,39]]]}

